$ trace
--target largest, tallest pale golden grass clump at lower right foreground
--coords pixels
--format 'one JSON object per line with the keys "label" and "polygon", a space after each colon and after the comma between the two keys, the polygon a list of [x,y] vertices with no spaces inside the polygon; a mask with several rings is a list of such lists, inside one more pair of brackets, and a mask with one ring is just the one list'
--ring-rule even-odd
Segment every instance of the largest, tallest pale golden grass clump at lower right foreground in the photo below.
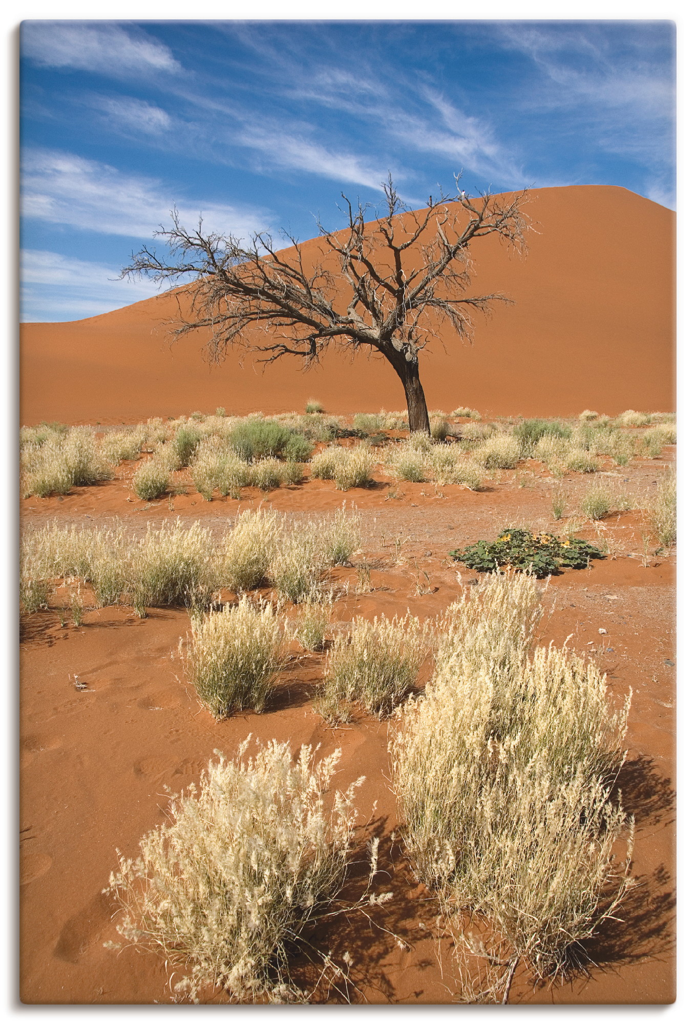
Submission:
{"label": "largest, tallest pale golden grass clump at lower right foreground", "polygon": [[538,607],[524,577],[463,598],[391,742],[417,872],[448,912],[492,926],[509,978],[521,958],[563,972],[630,884],[632,823],[610,798],[629,697],[612,710],[597,666],[565,648],[529,657]]}

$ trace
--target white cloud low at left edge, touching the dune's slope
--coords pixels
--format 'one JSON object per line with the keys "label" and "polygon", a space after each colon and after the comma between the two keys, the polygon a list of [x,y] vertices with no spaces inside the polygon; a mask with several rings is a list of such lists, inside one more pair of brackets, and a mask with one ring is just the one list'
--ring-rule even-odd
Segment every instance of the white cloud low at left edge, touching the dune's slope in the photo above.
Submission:
{"label": "white cloud low at left edge, touching the dune's slope", "polygon": [[158,294],[146,280],[118,281],[119,269],[46,250],[21,252],[21,319],[78,319]]}

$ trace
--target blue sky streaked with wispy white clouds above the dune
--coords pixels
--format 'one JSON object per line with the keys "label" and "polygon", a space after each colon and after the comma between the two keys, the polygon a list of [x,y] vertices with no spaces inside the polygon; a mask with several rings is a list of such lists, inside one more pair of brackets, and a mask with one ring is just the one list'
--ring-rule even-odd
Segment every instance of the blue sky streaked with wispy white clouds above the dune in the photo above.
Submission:
{"label": "blue sky streaked with wispy white clouds above the dune", "polygon": [[177,206],[316,234],[391,171],[412,207],[623,185],[675,206],[668,22],[25,22],[23,319],[146,298],[116,282]]}

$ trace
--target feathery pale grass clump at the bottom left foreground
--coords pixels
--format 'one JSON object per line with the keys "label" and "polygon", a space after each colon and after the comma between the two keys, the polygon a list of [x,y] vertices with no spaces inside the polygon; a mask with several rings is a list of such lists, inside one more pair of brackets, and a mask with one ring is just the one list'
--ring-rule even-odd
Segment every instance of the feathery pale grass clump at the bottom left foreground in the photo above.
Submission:
{"label": "feathery pale grass clump at the bottom left foreground", "polygon": [[305,1001],[289,948],[335,906],[362,779],[330,803],[340,751],[319,761],[302,746],[294,760],[290,743],[271,740],[245,761],[248,742],[211,762],[198,792],[172,799],[140,856],[119,856],[108,891],[120,933],[182,974],[175,989],[193,1001],[209,985],[236,1001]]}

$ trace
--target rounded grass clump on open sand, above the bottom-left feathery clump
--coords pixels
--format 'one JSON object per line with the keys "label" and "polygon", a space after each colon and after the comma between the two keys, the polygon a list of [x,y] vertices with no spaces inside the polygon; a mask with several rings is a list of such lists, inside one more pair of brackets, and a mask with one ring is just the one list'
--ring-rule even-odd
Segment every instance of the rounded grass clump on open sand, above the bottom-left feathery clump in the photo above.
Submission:
{"label": "rounded grass clump on open sand, above the bottom-left feathery clump", "polygon": [[179,653],[195,692],[214,718],[247,708],[260,713],[286,664],[280,623],[269,602],[236,605],[191,616]]}

